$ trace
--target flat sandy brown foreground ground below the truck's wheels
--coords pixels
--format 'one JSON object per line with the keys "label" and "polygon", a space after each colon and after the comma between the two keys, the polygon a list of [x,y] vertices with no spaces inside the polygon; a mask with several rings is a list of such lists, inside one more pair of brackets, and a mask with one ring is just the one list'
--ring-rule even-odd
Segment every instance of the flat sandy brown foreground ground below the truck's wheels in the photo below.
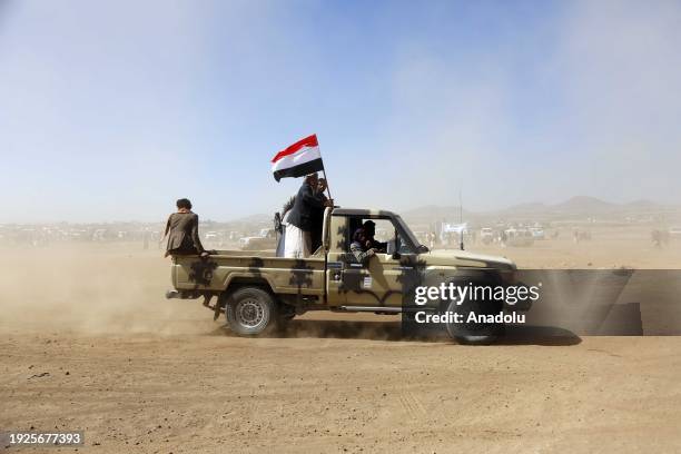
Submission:
{"label": "flat sandy brown foreground ground below the truck's wheels", "polygon": [[88,452],[681,450],[678,337],[470,348],[43,334],[1,345],[0,424],[78,427]]}

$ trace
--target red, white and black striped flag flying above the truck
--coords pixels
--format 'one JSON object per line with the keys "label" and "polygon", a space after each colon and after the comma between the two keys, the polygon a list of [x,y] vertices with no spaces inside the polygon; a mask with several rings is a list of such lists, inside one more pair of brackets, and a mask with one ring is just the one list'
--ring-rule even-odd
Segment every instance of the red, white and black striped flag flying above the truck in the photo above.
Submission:
{"label": "red, white and black striped flag flying above the truck", "polygon": [[317,136],[314,134],[277,152],[272,159],[272,172],[277,181],[286,177],[304,177],[319,170],[324,170],[324,162]]}

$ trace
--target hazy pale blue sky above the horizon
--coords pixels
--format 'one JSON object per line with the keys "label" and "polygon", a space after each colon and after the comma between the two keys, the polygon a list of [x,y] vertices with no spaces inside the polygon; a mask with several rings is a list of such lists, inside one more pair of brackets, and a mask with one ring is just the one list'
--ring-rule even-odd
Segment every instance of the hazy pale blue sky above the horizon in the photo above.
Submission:
{"label": "hazy pale blue sky above the horizon", "polygon": [[681,203],[679,1],[0,0],[0,221]]}

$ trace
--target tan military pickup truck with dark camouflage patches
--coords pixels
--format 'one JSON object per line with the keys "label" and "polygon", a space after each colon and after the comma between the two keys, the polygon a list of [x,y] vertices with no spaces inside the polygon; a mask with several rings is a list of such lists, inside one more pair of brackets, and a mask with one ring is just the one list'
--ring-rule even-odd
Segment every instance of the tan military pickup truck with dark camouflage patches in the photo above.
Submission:
{"label": "tan military pickup truck with dark camouflage patches", "polygon": [[[349,246],[352,234],[367,219],[381,221],[389,238],[385,238],[385,254],[362,264]],[[166,296],[203,297],[216,319],[224,313],[234,333],[254,336],[277,329],[308,310],[403,314],[403,322],[424,310],[496,314],[504,310],[504,303],[435,300],[424,306],[415,304],[414,294],[420,286],[452,282],[510,285],[516,270],[503,257],[430,251],[398,215],[384,210],[327,208],[322,239],[323,245],[305,259],[244,250],[217,250],[205,258],[175,256],[175,290]],[[487,344],[503,334],[503,324],[452,323],[446,330],[462,343]]]}

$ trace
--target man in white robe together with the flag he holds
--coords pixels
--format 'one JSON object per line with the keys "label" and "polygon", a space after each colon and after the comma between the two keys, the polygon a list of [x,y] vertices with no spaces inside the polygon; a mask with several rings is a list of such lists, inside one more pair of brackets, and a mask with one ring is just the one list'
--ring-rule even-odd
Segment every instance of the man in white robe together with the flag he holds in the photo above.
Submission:
{"label": "man in white robe together with the flag he holds", "polygon": [[305,176],[305,181],[300,186],[296,195],[296,201],[288,215],[284,256],[288,258],[306,258],[313,253],[310,250],[310,230],[314,224],[314,213],[318,209],[324,209],[324,207],[334,206],[332,198],[325,200],[323,195],[317,193],[319,179],[316,172],[319,170],[324,171],[317,136],[312,135],[303,140],[298,140],[290,147],[279,151],[272,162],[272,171],[277,181],[286,177],[296,178]]}

